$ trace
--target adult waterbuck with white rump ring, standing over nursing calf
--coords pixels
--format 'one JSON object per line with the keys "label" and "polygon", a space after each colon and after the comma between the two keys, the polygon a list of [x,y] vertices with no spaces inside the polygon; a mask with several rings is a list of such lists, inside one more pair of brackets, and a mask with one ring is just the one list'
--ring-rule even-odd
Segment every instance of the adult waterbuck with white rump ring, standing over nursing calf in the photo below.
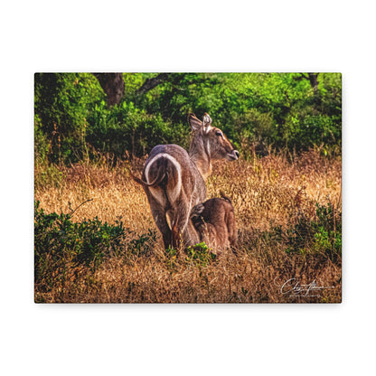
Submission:
{"label": "adult waterbuck with white rump ring, standing over nursing calf", "polygon": [[193,206],[206,199],[204,179],[211,172],[211,160],[239,158],[221,129],[211,126],[208,114],[202,121],[190,114],[188,123],[193,131],[189,153],[177,145],[155,146],[141,179],[133,176],[146,192],[165,248],[178,247],[181,242],[183,247],[198,243],[199,236],[189,217]]}

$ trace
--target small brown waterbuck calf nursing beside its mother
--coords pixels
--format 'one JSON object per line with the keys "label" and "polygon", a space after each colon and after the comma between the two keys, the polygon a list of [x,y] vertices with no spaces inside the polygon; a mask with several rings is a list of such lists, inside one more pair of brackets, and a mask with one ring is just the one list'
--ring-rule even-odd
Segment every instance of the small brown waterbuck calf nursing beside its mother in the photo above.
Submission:
{"label": "small brown waterbuck calf nursing beside its mother", "polygon": [[234,208],[231,200],[223,194],[222,198],[214,198],[195,205],[191,212],[191,221],[199,234],[200,241],[204,241],[214,253],[236,247],[238,234]]}

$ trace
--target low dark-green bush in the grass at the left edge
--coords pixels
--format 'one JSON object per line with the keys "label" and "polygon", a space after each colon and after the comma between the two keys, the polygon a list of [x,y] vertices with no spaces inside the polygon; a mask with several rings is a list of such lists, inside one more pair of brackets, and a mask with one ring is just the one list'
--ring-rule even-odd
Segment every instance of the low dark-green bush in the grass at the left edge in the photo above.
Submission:
{"label": "low dark-green bush in the grass at the left edge", "polygon": [[94,272],[107,257],[146,256],[155,243],[155,230],[135,238],[135,232],[103,223],[98,218],[73,222],[70,214],[46,214],[34,205],[35,284],[46,289],[62,286],[77,268]]}

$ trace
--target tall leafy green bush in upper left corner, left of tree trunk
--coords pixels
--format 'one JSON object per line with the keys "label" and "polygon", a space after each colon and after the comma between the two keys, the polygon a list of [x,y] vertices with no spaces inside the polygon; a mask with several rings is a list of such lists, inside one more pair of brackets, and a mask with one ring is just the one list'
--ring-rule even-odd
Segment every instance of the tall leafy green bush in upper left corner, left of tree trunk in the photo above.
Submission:
{"label": "tall leafy green bush in upper left corner, left of tree trunk", "polygon": [[[85,155],[87,118],[105,100],[89,73],[35,73],[35,138],[49,140],[50,162],[75,162]],[[37,152],[42,154],[40,144]]]}

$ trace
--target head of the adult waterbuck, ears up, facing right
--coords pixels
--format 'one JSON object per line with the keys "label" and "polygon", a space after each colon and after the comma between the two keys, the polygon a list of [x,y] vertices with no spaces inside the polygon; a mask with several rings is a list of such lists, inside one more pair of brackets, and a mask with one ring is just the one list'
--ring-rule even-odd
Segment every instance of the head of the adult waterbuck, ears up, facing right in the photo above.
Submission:
{"label": "head of the adult waterbuck, ears up, facing right", "polygon": [[193,130],[190,155],[192,154],[193,156],[199,150],[203,151],[208,157],[209,163],[211,159],[235,161],[239,158],[238,150],[235,150],[221,129],[211,126],[211,117],[209,114],[205,113],[202,121],[196,118],[194,114],[190,114],[188,122]]}

